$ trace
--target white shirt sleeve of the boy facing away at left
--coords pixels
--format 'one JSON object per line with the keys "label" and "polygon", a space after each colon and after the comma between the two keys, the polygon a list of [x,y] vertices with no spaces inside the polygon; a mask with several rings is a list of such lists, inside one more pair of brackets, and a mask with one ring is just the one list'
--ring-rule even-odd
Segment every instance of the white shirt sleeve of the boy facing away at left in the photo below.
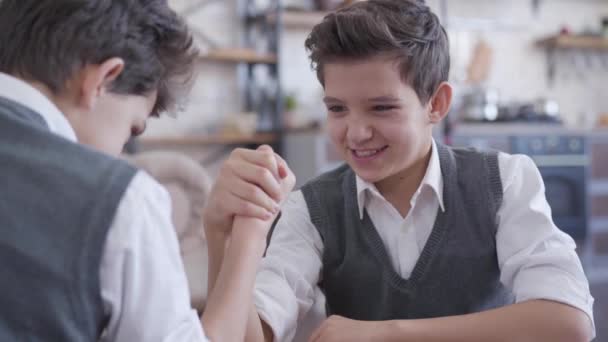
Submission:
{"label": "white shirt sleeve of the boy facing away at left", "polygon": [[110,317],[101,341],[207,341],[190,307],[169,195],[144,172],[131,181],[108,231],[100,282]]}

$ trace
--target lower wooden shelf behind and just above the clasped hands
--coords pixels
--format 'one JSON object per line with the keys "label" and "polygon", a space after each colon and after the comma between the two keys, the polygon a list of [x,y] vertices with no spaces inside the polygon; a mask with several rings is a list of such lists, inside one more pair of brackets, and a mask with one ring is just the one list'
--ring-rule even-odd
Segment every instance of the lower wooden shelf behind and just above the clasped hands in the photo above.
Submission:
{"label": "lower wooden shelf behind and just above the clasped hands", "polygon": [[142,137],[138,142],[142,145],[261,145],[272,144],[279,139],[276,133],[255,134],[213,134],[175,137]]}

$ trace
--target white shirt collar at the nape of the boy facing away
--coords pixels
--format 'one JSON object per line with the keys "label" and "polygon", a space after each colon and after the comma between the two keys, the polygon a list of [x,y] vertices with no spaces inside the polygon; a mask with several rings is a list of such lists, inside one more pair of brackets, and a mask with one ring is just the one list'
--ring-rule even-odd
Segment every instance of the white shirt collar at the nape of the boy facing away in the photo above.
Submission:
{"label": "white shirt collar at the nape of the boy facing away", "polygon": [[76,133],[59,108],[38,89],[0,72],[0,96],[28,107],[46,122],[52,133],[76,142]]}

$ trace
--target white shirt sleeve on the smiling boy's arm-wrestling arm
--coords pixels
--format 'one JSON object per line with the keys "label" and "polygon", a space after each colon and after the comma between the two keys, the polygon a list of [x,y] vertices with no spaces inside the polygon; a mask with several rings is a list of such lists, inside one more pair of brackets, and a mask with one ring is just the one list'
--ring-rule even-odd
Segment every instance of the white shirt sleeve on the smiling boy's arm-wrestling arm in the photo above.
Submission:
{"label": "white shirt sleeve on the smiling boy's arm-wrestling arm", "polygon": [[254,303],[275,341],[292,341],[315,300],[323,242],[301,191],[290,194],[256,277]]}

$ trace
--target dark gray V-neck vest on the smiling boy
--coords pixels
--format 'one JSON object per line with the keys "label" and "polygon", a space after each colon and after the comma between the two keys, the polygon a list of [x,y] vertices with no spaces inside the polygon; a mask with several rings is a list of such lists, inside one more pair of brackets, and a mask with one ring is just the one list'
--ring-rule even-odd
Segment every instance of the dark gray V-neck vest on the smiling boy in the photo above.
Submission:
{"label": "dark gray V-neck vest on the smiling boy", "polygon": [[445,212],[409,279],[392,267],[367,212],[359,217],[355,174],[342,166],[302,188],[324,243],[327,314],[358,320],[432,318],[513,303],[499,281],[496,212],[502,184],[496,153],[438,145]]}

